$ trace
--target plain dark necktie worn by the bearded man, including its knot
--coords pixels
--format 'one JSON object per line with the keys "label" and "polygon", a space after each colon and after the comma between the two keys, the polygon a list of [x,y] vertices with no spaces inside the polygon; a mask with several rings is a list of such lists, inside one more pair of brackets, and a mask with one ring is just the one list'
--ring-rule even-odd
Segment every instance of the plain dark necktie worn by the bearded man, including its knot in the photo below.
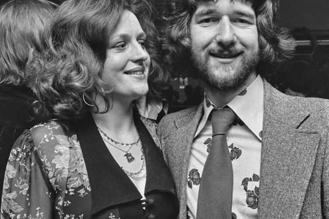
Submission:
{"label": "plain dark necktie worn by the bearded man, including its knot", "polygon": [[233,170],[226,133],[234,118],[229,108],[212,112],[212,142],[200,182],[197,219],[232,218]]}

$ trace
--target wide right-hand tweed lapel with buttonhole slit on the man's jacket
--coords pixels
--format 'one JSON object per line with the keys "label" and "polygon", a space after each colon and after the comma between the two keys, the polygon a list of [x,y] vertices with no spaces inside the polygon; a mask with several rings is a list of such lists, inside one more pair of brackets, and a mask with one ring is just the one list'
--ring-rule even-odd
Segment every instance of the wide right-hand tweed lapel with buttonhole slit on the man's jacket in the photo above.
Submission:
{"label": "wide right-hand tweed lapel with buttonhole slit on the man's jacket", "polygon": [[259,218],[297,218],[313,171],[319,134],[312,113],[264,82]]}

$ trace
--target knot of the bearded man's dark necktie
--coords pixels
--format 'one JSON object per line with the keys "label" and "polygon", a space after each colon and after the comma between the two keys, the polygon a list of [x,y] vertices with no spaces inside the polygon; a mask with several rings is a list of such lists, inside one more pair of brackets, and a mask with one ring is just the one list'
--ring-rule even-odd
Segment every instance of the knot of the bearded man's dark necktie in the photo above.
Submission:
{"label": "knot of the bearded man's dark necktie", "polygon": [[230,108],[215,109],[211,115],[212,133],[226,134],[235,117],[235,113]]}

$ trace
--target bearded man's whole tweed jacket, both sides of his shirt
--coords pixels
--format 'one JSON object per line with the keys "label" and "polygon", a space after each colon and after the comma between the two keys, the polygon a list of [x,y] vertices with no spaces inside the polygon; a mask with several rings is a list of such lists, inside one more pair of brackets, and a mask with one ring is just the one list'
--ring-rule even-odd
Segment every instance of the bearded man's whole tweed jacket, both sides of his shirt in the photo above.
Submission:
{"label": "bearded man's whole tweed jacket, both sides of his shirt", "polygon": [[[202,104],[163,117],[158,135],[187,212],[187,168]],[[264,80],[259,218],[329,218],[329,102],[285,95]]]}

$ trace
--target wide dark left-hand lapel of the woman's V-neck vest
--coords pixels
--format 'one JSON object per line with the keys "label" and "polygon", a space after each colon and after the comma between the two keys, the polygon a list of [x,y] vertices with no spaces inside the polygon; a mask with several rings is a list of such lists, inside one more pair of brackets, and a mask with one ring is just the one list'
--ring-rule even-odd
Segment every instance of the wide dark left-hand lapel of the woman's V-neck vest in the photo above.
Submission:
{"label": "wide dark left-hand lapel of the woman's V-neck vest", "polygon": [[82,120],[72,123],[80,142],[92,188],[92,214],[142,196],[109,153],[99,134],[94,119],[88,113]]}

